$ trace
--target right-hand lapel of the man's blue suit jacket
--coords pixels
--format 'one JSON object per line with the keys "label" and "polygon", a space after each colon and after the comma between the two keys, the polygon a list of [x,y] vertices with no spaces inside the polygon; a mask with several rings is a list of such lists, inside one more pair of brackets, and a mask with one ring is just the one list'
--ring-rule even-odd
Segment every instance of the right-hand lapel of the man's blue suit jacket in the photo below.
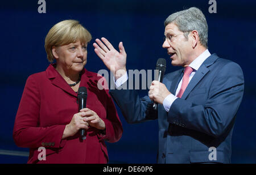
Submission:
{"label": "right-hand lapel of the man's blue suit jacket", "polygon": [[191,81],[188,83],[187,88],[185,89],[183,95],[181,96],[181,99],[187,99],[189,93],[193,90],[193,88],[196,87],[196,85],[200,82],[201,79],[204,78],[204,76],[209,72],[208,67],[212,65],[218,56],[216,54],[212,54],[210,57],[205,59],[203,64],[199,67],[199,69],[196,71],[196,74],[193,76]]}

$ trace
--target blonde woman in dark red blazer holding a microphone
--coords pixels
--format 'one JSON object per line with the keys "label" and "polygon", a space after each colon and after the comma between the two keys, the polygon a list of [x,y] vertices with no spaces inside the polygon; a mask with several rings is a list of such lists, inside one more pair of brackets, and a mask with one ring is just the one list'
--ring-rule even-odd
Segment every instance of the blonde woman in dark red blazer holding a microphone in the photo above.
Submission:
{"label": "blonde woman in dark red blazer holding a microphone", "polygon": [[[105,140],[121,138],[122,125],[108,89],[97,88],[102,76],[84,68],[91,39],[76,20],[49,30],[47,59],[56,63],[28,77],[14,123],[16,145],[30,148],[28,163],[108,163]],[[87,89],[86,108],[81,110],[79,87]],[[39,147],[46,148],[44,159]]]}

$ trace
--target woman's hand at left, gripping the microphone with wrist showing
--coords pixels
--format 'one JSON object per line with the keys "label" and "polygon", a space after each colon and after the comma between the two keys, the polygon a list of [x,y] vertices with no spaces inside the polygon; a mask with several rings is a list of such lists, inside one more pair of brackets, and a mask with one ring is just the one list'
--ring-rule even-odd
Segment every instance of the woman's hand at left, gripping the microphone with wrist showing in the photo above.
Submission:
{"label": "woman's hand at left, gripping the microphone with wrist showing", "polygon": [[62,139],[75,135],[80,129],[89,129],[89,123],[84,121],[85,115],[85,112],[79,112],[74,114],[71,122],[65,126]]}

